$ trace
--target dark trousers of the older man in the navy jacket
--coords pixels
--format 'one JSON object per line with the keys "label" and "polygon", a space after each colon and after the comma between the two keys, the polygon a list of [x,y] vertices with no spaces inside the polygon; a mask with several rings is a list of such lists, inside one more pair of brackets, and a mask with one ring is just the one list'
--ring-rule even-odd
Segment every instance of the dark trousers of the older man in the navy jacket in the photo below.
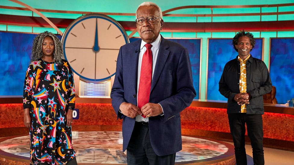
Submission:
{"label": "dark trousers of the older man in the navy jacket", "polygon": [[155,154],[149,135],[149,125],[136,122],[127,147],[128,165],[173,165],[176,154],[158,156]]}

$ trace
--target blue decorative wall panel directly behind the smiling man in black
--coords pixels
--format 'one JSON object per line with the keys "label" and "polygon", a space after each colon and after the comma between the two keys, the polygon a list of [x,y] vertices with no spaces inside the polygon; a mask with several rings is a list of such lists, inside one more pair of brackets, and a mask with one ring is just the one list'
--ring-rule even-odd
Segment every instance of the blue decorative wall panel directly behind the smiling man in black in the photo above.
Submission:
{"label": "blue decorative wall panel directly behind the smiling man in black", "polygon": [[[255,39],[255,47],[250,52],[252,57],[262,58],[262,39]],[[232,39],[209,39],[208,40],[208,76],[207,76],[207,99],[227,100],[218,91],[218,82],[223,73],[224,66],[230,60],[238,56],[233,48]]]}

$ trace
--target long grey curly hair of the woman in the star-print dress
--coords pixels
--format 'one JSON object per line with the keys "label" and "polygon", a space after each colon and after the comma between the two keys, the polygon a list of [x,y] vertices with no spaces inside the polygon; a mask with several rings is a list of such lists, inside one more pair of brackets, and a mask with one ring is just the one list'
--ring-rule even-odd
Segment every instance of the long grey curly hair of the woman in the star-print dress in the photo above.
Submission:
{"label": "long grey curly hair of the woman in the star-print dress", "polygon": [[34,38],[32,47],[32,57],[30,62],[38,61],[40,58],[42,58],[42,42],[44,38],[47,36],[50,36],[54,41],[53,62],[61,64],[62,59],[64,59],[62,44],[56,35],[48,31],[40,33]]}

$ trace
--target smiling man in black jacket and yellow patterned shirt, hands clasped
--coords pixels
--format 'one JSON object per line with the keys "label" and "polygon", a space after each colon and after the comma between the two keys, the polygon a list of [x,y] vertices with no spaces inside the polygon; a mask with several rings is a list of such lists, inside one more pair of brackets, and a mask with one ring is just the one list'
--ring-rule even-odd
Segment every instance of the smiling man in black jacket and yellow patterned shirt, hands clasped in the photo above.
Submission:
{"label": "smiling man in black jacket and yellow patterned shirt, hands clasped", "polygon": [[219,91],[228,98],[227,113],[235,146],[237,165],[247,164],[245,123],[251,140],[254,164],[264,164],[262,117],[263,96],[271,91],[271,78],[262,60],[252,57],[255,45],[252,33],[241,31],[233,38],[236,59],[224,66]]}

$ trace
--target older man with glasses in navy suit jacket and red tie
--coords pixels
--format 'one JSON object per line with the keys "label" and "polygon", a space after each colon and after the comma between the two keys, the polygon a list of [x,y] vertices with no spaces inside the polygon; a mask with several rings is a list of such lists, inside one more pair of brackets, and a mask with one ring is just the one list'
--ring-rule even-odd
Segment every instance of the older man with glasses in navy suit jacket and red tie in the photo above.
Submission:
{"label": "older man with glasses in navy suit jacket and red tie", "polygon": [[123,119],[128,164],[174,164],[182,149],[180,112],[196,92],[189,54],[159,35],[161,9],[143,2],[136,11],[140,40],[120,48],[111,90],[112,106]]}

